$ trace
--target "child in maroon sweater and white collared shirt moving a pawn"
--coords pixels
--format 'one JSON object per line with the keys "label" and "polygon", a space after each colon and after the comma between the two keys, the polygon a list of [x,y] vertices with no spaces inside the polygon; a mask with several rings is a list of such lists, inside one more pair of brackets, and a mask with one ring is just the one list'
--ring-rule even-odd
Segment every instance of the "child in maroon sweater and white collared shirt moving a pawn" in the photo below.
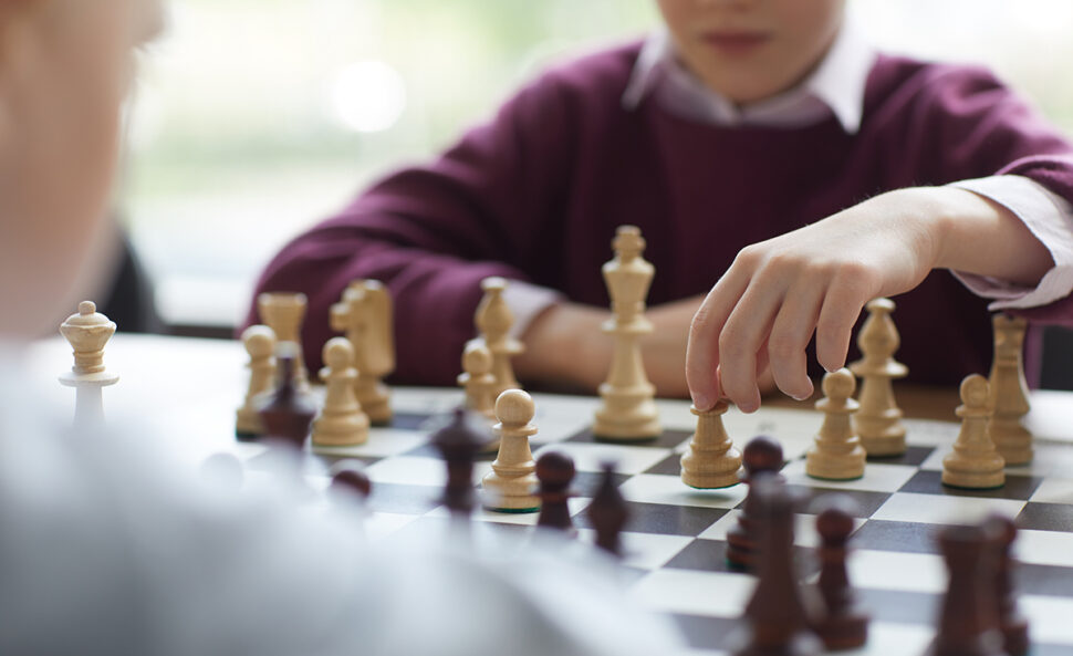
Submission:
{"label": "child in maroon sweater and white collared shirt moving a pawn", "polygon": [[986,369],[988,299],[1073,313],[1073,149],[989,73],[876,54],[843,0],[658,6],[667,33],[550,71],[284,248],[259,290],[309,295],[311,360],[347,281],[376,278],[395,295],[398,378],[450,384],[479,281],[498,274],[514,280],[519,376],[592,391],[611,357],[600,265],[622,223],[656,267],[659,394],[688,393],[690,320],[721,280],[694,327],[700,406],[753,409],[774,384],[808,395],[813,329],[840,365],[868,295],[900,293],[898,358],[944,385]]}

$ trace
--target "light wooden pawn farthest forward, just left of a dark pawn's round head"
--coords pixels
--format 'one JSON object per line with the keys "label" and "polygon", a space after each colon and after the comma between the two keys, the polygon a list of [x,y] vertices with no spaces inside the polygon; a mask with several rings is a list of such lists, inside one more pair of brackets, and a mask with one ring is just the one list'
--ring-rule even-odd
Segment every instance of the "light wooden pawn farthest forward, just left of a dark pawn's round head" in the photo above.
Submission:
{"label": "light wooden pawn farthest forward, just left of a dark pawn's round head", "polygon": [[536,435],[536,427],[531,424],[535,413],[533,399],[521,389],[508,389],[496,399],[499,456],[482,481],[485,507],[489,510],[540,510],[540,499],[533,493],[538,486],[536,465],[529,448],[529,438]]}

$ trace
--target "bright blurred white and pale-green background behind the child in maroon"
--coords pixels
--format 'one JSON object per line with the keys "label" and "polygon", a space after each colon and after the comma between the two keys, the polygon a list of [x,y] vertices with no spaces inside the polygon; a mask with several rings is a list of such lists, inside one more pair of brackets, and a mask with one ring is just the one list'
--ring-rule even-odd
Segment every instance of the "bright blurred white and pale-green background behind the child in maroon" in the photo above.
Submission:
{"label": "bright blurred white and pale-green background behind the child in maroon", "polygon": [[[1070,0],[851,0],[884,50],[997,69],[1073,133]],[[173,0],[129,112],[125,221],[164,319],[231,325],[288,239],[654,0]]]}

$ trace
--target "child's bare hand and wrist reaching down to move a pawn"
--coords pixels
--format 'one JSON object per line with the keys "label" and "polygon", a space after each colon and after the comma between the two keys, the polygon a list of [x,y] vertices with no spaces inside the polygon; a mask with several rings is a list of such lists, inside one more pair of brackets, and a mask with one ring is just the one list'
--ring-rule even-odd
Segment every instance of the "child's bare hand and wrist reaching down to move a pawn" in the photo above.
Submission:
{"label": "child's bare hand and wrist reaching down to move a pawn", "polygon": [[769,363],[780,389],[805,398],[813,332],[820,364],[835,371],[869,300],[906,292],[937,267],[1038,281],[1049,268],[1040,249],[1049,260],[1015,215],[951,187],[884,194],[749,246],[694,317],[686,356],[694,403],[704,409],[725,396],[756,410],[757,372]]}

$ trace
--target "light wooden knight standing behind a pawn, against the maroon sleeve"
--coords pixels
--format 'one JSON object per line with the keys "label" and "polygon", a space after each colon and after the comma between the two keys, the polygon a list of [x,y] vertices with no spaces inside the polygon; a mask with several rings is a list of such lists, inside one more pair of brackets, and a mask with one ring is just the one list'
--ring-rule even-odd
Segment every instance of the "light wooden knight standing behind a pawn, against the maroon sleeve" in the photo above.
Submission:
{"label": "light wooden knight standing behind a pawn, against the maroon sleeve", "polygon": [[344,333],[354,345],[357,402],[376,426],[392,420],[390,389],[383,378],[395,371],[394,310],[392,296],[377,280],[355,280],[332,305],[332,330]]}

